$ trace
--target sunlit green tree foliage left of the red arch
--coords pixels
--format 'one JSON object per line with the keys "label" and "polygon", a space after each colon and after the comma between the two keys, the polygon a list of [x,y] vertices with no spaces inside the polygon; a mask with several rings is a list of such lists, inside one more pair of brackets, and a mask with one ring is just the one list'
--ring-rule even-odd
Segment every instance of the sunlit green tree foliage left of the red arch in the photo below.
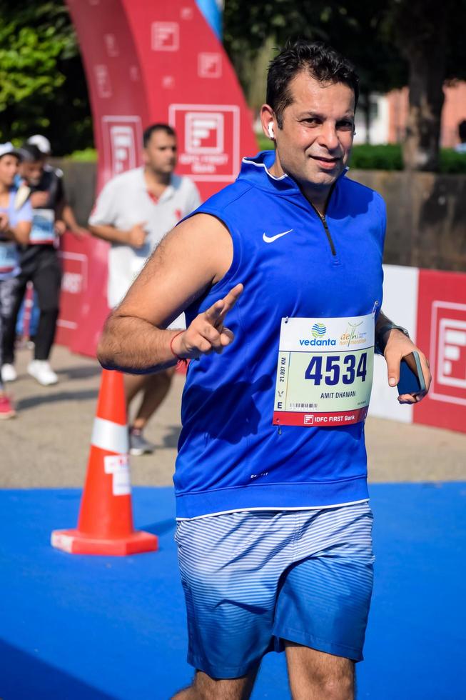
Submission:
{"label": "sunlit green tree foliage left of the red arch", "polygon": [[54,154],[92,145],[86,80],[61,2],[0,0],[0,140],[41,133]]}

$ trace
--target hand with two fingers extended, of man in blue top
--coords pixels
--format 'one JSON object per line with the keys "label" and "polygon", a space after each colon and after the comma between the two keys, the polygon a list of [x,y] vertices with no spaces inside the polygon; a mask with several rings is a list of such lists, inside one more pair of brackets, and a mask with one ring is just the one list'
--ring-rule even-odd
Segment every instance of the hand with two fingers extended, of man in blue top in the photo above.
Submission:
{"label": "hand with two fingers extended, of man in blue top", "polygon": [[180,358],[193,359],[211,352],[221,354],[223,348],[233,343],[230,329],[223,326],[228,311],[233,309],[243,292],[243,285],[237,284],[223,299],[219,299],[210,309],[196,316],[184,333],[173,340],[173,352]]}

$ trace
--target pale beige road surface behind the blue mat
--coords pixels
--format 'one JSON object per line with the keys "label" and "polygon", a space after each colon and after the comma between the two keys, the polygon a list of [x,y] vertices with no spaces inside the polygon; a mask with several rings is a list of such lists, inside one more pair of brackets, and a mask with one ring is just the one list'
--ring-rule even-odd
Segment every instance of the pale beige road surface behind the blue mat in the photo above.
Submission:
{"label": "pale beige road surface behind the blue mat", "polygon": [[[0,488],[82,486],[86,474],[100,367],[55,347],[59,384],[44,387],[26,373],[31,351],[19,351],[19,378],[9,384],[18,417],[0,421]],[[180,431],[183,376],[177,375],[146,436],[156,453],[131,458],[132,482],[172,483]],[[466,480],[466,434],[369,418],[366,436],[371,481]]]}

